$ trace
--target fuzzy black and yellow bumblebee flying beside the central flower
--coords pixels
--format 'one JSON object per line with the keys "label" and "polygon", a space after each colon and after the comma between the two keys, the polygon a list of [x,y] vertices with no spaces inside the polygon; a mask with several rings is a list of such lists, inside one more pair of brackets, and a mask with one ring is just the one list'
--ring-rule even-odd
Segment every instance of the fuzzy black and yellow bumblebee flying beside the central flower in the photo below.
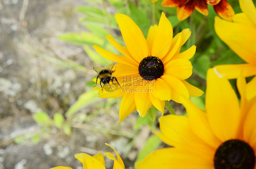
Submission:
{"label": "fuzzy black and yellow bumblebee flying beside the central flower", "polygon": [[[115,65],[115,63],[112,63],[112,64],[109,64],[108,66],[106,66],[104,68],[98,67],[98,66],[93,66],[93,69],[98,73],[97,78],[96,78],[96,85],[97,85],[97,80],[98,79],[100,80],[100,85],[103,83],[103,87],[101,85],[102,92],[103,92],[105,84],[108,84],[110,89],[113,91],[113,89],[111,88],[109,82],[111,81],[112,84],[113,84],[113,80],[114,79],[117,81],[118,85],[120,86],[117,78],[112,75],[115,72],[115,70],[112,70],[114,65]],[[93,87],[95,87],[95,86],[93,86]]]}

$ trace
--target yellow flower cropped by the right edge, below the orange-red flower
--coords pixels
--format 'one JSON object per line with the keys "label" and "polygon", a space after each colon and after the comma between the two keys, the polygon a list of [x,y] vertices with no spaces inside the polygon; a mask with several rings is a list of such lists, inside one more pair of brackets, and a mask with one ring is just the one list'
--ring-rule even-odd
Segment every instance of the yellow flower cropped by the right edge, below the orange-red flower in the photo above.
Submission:
{"label": "yellow flower cropped by the right edge, below the orange-red flower", "polygon": [[246,61],[246,64],[215,66],[228,79],[236,79],[241,70],[245,77],[256,75],[256,8],[252,0],[239,3],[243,13],[233,16],[234,22],[215,17],[216,34]]}

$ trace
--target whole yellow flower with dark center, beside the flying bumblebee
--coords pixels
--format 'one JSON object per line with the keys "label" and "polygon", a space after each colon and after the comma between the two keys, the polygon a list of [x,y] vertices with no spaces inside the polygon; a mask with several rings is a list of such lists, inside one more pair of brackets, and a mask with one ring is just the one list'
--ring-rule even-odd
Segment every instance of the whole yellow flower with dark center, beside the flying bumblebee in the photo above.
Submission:
{"label": "whole yellow flower with dark center, beside the flying bumblebee", "polygon": [[108,41],[122,55],[115,55],[94,45],[95,50],[108,60],[118,62],[113,70],[122,89],[114,92],[99,90],[99,97],[123,97],[119,109],[119,122],[128,114],[137,110],[145,116],[154,105],[164,113],[164,100],[181,103],[180,95],[198,97],[203,91],[192,86],[185,79],[192,74],[189,61],[195,54],[195,45],[180,53],[180,48],[188,40],[191,32],[183,30],[173,38],[173,29],[169,20],[162,13],[159,25],[151,26],[147,39],[131,18],[116,14],[116,20],[123,35],[126,47],[118,44],[111,35]]}

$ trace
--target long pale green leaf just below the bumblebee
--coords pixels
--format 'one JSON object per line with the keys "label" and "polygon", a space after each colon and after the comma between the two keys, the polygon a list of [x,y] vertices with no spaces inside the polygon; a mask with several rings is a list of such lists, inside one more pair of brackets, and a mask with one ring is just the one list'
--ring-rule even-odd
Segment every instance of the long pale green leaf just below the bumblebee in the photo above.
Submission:
{"label": "long pale green leaf just below the bumblebee", "polygon": [[77,113],[79,110],[85,108],[88,105],[95,103],[98,98],[98,90],[89,90],[79,96],[77,101],[67,110],[67,117],[72,116]]}

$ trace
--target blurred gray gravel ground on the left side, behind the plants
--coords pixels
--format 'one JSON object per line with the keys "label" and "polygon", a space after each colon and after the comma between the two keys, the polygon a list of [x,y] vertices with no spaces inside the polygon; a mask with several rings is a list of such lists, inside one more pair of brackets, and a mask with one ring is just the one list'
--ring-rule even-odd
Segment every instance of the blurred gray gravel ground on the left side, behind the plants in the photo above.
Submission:
{"label": "blurred gray gravel ground on the left side, behind the plants", "polygon": [[[92,70],[93,65],[82,47],[56,38],[72,32],[70,26],[77,32],[85,30],[75,11],[81,5],[87,5],[86,1],[0,0],[0,169],[47,169],[57,165],[82,169],[74,154],[110,151],[104,145],[113,139],[110,135],[92,130],[79,133],[79,127],[72,131],[71,138],[76,136],[72,142],[54,129],[37,144],[14,142],[20,135],[40,132],[32,118],[37,110],[50,115],[65,113],[87,90],[84,83],[94,76],[54,65],[35,55],[42,53],[61,60],[68,58]],[[117,112],[112,117],[99,115],[92,125],[106,121],[106,118],[110,118],[110,122],[104,125],[118,121]],[[123,125],[131,128],[129,124]],[[113,143],[118,148],[127,142],[121,137]]]}

